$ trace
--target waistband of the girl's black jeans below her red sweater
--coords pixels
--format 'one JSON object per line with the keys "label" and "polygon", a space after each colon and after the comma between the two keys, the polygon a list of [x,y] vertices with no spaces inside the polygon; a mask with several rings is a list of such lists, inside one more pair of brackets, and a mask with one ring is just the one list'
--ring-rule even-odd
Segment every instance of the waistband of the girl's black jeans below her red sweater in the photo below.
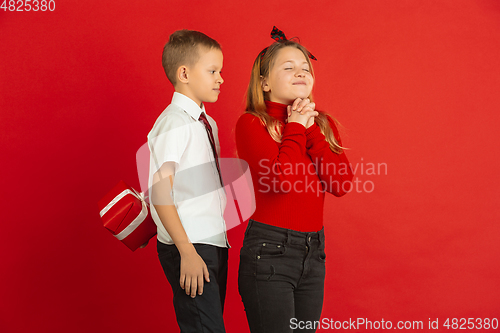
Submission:
{"label": "waistband of the girl's black jeans below her red sweater", "polygon": [[269,237],[284,239],[286,243],[307,244],[312,240],[318,240],[321,244],[325,241],[324,227],[316,232],[302,232],[292,229],[280,228],[250,219],[248,221],[248,226],[245,233],[248,233],[250,229],[256,232],[260,231],[261,233]]}

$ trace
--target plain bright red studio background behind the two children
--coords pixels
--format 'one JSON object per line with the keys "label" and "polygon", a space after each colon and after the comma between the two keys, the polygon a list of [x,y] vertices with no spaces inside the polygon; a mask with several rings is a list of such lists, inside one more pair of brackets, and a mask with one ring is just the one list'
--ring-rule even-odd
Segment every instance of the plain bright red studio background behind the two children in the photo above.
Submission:
{"label": "plain bright red studio background behind the two children", "polygon": [[[387,164],[358,169],[371,193],[326,199],[323,317],[500,317],[498,1],[56,0],[0,11],[0,331],[177,331],[155,247],[130,252],[96,203],[121,179],[139,185],[135,153],[173,92],[168,35],[221,43],[225,83],[207,110],[233,157],[273,25],[319,59],[317,107],[344,125],[351,162]],[[229,231],[228,332],[248,332],[244,228]]]}

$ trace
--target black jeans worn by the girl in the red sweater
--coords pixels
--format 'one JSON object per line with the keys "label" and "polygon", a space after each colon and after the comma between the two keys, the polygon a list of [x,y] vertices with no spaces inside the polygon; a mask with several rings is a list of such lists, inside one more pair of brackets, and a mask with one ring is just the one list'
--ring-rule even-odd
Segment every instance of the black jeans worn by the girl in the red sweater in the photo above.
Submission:
{"label": "black jeans worn by the girl in the red sweater", "polygon": [[299,232],[250,220],[238,272],[250,331],[293,332],[294,322],[320,320],[325,259],[323,229]]}

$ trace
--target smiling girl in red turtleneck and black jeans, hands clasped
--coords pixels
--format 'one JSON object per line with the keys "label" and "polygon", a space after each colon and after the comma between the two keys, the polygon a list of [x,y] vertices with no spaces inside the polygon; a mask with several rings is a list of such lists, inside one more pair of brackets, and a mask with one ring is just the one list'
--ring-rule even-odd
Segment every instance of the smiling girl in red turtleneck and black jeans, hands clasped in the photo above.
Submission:
{"label": "smiling girl in red turtleneck and black jeans, hands clasped", "polygon": [[320,319],[325,191],[344,195],[353,176],[335,121],[312,102],[309,57],[315,58],[276,27],[271,36],[278,41],[255,59],[247,112],[236,125],[238,155],[250,166],[257,206],[238,272],[252,333],[292,332]]}

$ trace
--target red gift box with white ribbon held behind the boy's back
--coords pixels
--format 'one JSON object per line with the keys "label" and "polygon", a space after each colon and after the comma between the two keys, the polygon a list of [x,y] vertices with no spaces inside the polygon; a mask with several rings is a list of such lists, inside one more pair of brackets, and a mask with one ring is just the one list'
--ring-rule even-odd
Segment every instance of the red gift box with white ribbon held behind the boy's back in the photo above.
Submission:
{"label": "red gift box with white ribbon held behind the boy's back", "polygon": [[132,251],[156,235],[156,224],[149,214],[142,193],[120,181],[98,204],[104,227]]}

